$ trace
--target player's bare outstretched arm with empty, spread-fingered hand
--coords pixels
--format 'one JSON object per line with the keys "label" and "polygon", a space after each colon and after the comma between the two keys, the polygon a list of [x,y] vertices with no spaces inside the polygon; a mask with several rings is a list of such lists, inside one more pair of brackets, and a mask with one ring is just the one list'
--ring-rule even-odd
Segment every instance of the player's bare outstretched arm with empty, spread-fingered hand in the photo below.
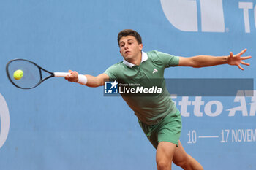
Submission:
{"label": "player's bare outstretched arm with empty, spread-fingered hand", "polygon": [[246,52],[246,49],[240,53],[233,55],[230,52],[229,56],[215,57],[210,55],[197,55],[190,58],[179,58],[178,66],[192,66],[195,68],[206,67],[206,66],[217,66],[220,64],[228,63],[229,65],[238,66],[239,69],[244,70],[240,64],[249,66],[249,63],[245,63],[243,60],[252,58],[251,56],[241,57]]}

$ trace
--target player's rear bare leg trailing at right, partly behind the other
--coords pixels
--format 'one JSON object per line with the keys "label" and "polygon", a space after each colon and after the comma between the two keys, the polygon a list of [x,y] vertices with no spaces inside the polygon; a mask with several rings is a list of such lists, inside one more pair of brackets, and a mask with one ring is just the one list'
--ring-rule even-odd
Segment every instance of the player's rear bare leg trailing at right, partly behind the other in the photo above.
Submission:
{"label": "player's rear bare leg trailing at right, partly behind the other", "polygon": [[203,166],[185,152],[180,141],[173,155],[173,163],[185,170],[203,170]]}

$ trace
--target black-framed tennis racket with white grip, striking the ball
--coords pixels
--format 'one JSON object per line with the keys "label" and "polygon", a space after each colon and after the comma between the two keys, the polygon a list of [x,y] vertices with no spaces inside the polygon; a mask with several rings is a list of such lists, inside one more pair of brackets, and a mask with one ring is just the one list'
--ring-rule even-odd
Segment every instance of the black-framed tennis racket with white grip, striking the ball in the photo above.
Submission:
{"label": "black-framed tennis racket with white grip, striking the ball", "polygon": [[[17,80],[14,73],[17,70],[23,72],[23,76]],[[31,89],[37,87],[39,84],[48,80],[51,77],[65,77],[69,75],[68,72],[49,72],[38,66],[36,63],[25,59],[14,59],[7,63],[6,66],[7,77],[17,88]]]}

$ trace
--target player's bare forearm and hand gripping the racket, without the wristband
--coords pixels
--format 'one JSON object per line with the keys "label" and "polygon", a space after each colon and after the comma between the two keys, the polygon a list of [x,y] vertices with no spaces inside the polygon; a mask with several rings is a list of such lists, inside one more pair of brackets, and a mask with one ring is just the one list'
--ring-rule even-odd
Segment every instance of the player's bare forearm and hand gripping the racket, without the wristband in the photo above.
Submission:
{"label": "player's bare forearm and hand gripping the racket, without the wristband", "polygon": [[[71,71],[69,70],[70,75],[67,75],[65,77],[66,80],[68,80],[69,82],[78,82],[78,72],[75,71]],[[99,74],[97,77],[91,76],[91,75],[83,75],[86,77],[87,82],[86,85],[89,87],[99,87],[101,85],[104,85],[105,81],[109,80],[109,76],[108,74]],[[80,83],[81,85],[84,85],[83,83]]]}

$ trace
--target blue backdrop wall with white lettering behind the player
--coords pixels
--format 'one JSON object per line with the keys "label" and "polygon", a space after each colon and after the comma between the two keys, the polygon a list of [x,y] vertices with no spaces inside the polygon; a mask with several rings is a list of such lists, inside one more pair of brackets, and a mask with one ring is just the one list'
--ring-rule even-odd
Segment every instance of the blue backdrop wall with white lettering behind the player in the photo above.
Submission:
{"label": "blue backdrop wall with white lettering behind the player", "polygon": [[[101,74],[122,60],[116,36],[132,28],[144,51],[189,57],[247,48],[252,55],[244,71],[176,67],[166,78],[255,78],[255,18],[252,0],[1,0],[1,169],[157,169],[154,147],[121,97],[61,78],[20,90],[7,80],[10,59]],[[205,169],[256,169],[256,98],[242,93],[173,97],[183,117],[181,143]]]}

